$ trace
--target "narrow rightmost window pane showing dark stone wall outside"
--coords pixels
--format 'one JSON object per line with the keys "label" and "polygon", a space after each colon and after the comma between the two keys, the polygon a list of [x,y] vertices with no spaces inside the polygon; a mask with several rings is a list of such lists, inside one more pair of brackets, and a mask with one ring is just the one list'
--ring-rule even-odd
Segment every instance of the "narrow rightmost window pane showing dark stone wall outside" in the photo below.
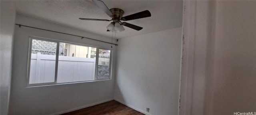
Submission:
{"label": "narrow rightmost window pane showing dark stone wall outside", "polygon": [[97,80],[110,79],[109,65],[110,65],[110,50],[99,49]]}

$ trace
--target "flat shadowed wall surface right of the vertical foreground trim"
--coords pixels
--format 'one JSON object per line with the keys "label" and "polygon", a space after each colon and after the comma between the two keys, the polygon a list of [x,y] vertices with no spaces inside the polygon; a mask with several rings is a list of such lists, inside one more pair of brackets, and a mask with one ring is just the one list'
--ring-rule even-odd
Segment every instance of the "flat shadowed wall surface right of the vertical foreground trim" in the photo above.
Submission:
{"label": "flat shadowed wall surface right of the vertical foreground trim", "polygon": [[256,1],[217,1],[212,115],[256,112]]}

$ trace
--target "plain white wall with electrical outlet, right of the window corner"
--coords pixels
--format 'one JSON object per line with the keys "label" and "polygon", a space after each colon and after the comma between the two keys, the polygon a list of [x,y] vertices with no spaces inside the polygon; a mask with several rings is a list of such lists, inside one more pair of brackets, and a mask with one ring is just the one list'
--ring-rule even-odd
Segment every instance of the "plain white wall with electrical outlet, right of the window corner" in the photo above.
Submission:
{"label": "plain white wall with electrical outlet, right of the window corner", "polygon": [[148,115],[178,115],[181,33],[174,28],[119,40],[114,99]]}

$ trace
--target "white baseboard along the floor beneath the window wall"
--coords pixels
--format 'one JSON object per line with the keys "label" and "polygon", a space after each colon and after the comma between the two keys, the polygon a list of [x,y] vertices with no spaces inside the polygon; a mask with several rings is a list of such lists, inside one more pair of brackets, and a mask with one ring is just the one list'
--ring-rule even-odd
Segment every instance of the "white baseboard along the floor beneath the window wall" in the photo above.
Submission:
{"label": "white baseboard along the floor beneath the window wall", "polygon": [[78,109],[83,109],[83,108],[86,108],[86,107],[91,107],[91,106],[98,105],[98,104],[105,103],[105,102],[112,101],[112,100],[114,100],[114,99],[106,99],[106,100],[103,100],[103,101],[99,101],[99,102],[96,102],[96,103],[84,105],[84,106],[81,106],[81,107],[76,107],[76,108],[73,108],[73,109],[68,109],[66,111],[61,111],[61,112],[53,113],[53,114],[50,114],[50,115],[60,115],[60,114],[63,114],[63,113],[68,113],[68,112],[71,112],[71,111],[76,111]]}

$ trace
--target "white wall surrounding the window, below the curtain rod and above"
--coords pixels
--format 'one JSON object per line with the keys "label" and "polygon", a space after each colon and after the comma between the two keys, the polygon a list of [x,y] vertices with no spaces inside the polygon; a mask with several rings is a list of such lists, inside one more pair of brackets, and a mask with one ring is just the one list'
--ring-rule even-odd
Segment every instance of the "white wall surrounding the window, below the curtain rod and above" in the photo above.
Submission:
{"label": "white wall surrounding the window, below the curtain rod and above", "polygon": [[[111,42],[110,38],[106,38],[104,36],[82,32],[25,16],[16,15],[16,23]],[[55,40],[89,44],[92,46],[100,46],[102,48],[110,48],[111,46],[110,44],[103,42],[88,39],[81,40],[81,38],[74,36],[27,27],[19,28],[19,26],[15,26],[10,115],[60,114],[113,99],[114,77],[112,77],[112,80],[107,81],[74,83],[45,87],[26,87],[29,36],[38,36]],[[113,46],[113,50],[113,60],[115,60],[115,46]],[[113,64],[113,68],[115,68],[114,65],[115,64]],[[113,73],[115,73],[114,69]],[[114,74],[112,74],[112,76],[114,76]]]}

